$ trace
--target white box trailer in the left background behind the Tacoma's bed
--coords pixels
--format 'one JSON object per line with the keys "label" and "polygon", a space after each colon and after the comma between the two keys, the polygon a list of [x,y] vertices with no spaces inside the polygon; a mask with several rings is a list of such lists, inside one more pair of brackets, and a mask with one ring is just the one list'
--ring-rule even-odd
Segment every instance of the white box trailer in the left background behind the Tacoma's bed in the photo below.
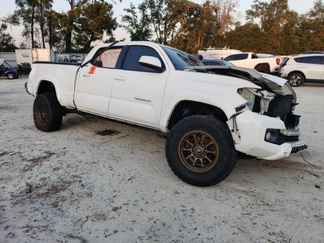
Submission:
{"label": "white box trailer in the left background behind the Tacoma's bed", "polygon": [[36,61],[55,61],[54,51],[51,49],[16,49],[17,64],[29,63]]}

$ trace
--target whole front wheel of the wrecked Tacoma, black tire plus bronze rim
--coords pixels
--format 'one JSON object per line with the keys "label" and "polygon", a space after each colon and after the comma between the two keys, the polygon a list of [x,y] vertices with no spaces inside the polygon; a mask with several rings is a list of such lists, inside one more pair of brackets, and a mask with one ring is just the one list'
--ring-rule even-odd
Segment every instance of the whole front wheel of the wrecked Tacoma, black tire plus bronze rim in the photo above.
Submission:
{"label": "whole front wheel of the wrecked Tacoma, black tire plus bronze rim", "polygon": [[186,117],[172,128],[166,156],[172,171],[194,186],[211,186],[223,181],[237,160],[228,127],[204,115]]}

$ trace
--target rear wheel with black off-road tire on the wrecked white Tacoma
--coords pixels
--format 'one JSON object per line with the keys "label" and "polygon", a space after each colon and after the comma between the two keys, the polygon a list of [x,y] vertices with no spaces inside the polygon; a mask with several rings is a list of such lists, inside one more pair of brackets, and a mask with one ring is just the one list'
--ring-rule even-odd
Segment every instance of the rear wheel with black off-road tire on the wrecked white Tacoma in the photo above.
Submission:
{"label": "rear wheel with black off-road tire on the wrecked white Tacoma", "polygon": [[[42,108],[41,108],[42,107]],[[42,109],[46,119],[39,115],[39,109]],[[33,105],[33,118],[35,126],[43,132],[53,132],[61,128],[62,125],[62,106],[53,94],[37,95]]]}

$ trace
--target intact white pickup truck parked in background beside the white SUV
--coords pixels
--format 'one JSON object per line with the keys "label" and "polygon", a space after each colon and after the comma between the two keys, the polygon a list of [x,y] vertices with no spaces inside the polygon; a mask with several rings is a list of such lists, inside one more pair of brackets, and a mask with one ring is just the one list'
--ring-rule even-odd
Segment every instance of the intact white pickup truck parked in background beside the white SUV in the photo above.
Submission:
{"label": "intact white pickup truck parked in background beside the white SUV", "polygon": [[225,61],[237,67],[254,68],[259,72],[277,74],[282,60],[275,57],[260,58],[252,52],[245,52],[230,55],[224,58]]}

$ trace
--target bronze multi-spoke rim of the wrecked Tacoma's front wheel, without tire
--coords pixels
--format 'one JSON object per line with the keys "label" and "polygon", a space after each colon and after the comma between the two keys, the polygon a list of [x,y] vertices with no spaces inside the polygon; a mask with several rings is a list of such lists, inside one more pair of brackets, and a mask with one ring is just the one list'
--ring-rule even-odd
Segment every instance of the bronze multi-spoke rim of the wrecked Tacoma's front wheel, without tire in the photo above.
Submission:
{"label": "bronze multi-spoke rim of the wrecked Tacoma's front wheel, without tire", "polygon": [[186,133],[178,145],[181,163],[195,173],[208,172],[218,162],[219,147],[216,140],[206,132]]}

